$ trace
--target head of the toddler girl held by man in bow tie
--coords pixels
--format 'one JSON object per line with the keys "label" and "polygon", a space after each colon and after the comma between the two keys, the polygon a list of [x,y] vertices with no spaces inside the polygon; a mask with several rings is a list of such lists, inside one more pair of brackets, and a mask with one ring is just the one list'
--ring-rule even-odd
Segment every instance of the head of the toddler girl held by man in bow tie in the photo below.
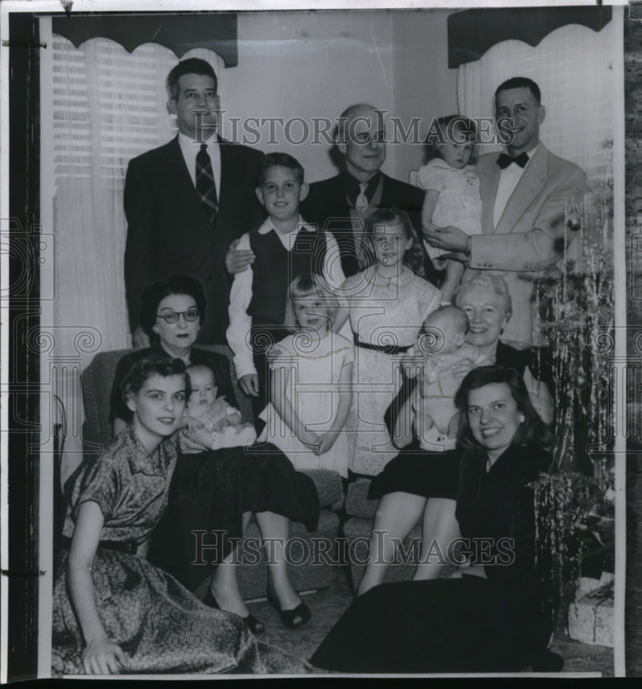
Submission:
{"label": "head of the toddler girl held by man in bow tie", "polygon": [[455,169],[474,165],[476,140],[477,128],[472,120],[461,115],[440,117],[437,123],[433,121],[425,138],[423,162],[441,158]]}

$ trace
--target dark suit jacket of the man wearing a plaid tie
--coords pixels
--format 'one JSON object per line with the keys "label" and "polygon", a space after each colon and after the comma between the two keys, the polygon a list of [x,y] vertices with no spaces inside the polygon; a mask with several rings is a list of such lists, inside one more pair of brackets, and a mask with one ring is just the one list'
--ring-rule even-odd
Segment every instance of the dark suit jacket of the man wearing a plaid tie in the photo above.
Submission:
{"label": "dark suit jacket of the man wearing a plaid tie", "polygon": [[254,194],[261,152],[219,138],[221,189],[212,230],[181,153],[178,136],[130,161],[125,180],[125,285],[130,327],[139,322],[143,290],[174,274],[198,278],[208,300],[199,342],[225,344],[230,278],[225,253],[232,240],[263,222]]}

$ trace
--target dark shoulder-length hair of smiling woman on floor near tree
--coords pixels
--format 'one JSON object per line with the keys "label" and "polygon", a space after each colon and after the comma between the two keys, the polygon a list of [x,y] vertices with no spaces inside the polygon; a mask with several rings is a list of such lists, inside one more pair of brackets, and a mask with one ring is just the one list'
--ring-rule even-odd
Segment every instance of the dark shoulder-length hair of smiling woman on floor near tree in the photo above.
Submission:
{"label": "dark shoulder-length hair of smiling woman on floor near tree", "polygon": [[516,445],[534,444],[544,451],[550,450],[553,443],[551,429],[541,420],[535,411],[528,389],[523,378],[515,369],[507,369],[503,366],[480,366],[472,369],[462,380],[459,390],[455,394],[454,403],[461,413],[457,440],[465,449],[483,449],[481,444],[474,439],[468,422],[468,394],[471,390],[477,390],[491,383],[505,383],[510,389],[512,398],[517,404],[517,409],[524,415],[524,420],[514,435],[512,442]]}

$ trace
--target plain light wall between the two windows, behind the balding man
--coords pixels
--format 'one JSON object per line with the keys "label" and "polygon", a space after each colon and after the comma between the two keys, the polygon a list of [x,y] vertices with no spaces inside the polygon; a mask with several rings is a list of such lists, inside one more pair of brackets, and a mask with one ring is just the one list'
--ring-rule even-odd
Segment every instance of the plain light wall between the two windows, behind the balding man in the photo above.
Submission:
{"label": "plain light wall between the two windows, behind the balding man", "polygon": [[[239,13],[239,64],[225,70],[221,100],[227,112],[223,135],[239,141],[243,130],[232,117],[297,116],[336,121],[352,103],[372,103],[399,116],[404,125],[456,110],[457,70],[448,70],[446,10],[248,12]],[[427,69],[429,68],[429,69]],[[252,125],[256,127],[256,125]],[[428,125],[423,129],[427,129]],[[330,145],[296,145],[283,127],[259,129],[261,150],[282,150],[299,158],[308,181],[336,174]],[[312,127],[311,127],[312,131]],[[292,138],[300,138],[293,125]],[[425,131],[421,132],[422,135]],[[253,140],[250,132],[246,136]],[[250,141],[248,141],[250,143]],[[421,147],[390,145],[383,170],[403,180],[421,163]]]}

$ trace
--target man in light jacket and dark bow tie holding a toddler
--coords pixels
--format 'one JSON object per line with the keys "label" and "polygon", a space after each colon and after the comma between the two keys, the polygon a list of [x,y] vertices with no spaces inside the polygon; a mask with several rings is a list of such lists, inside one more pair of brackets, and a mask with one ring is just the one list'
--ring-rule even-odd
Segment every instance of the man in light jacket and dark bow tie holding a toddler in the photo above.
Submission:
{"label": "man in light jacket and dark bow tie holding a toddler", "polygon": [[468,236],[457,227],[424,233],[430,244],[468,263],[473,269],[468,276],[481,270],[506,280],[513,315],[503,339],[527,343],[534,339],[534,280],[561,258],[565,240],[579,229],[575,209],[586,192],[583,170],[539,140],[545,114],[539,86],[531,79],[516,76],[499,85],[495,115],[498,121],[508,119],[511,141],[505,153],[477,161],[483,234]]}

